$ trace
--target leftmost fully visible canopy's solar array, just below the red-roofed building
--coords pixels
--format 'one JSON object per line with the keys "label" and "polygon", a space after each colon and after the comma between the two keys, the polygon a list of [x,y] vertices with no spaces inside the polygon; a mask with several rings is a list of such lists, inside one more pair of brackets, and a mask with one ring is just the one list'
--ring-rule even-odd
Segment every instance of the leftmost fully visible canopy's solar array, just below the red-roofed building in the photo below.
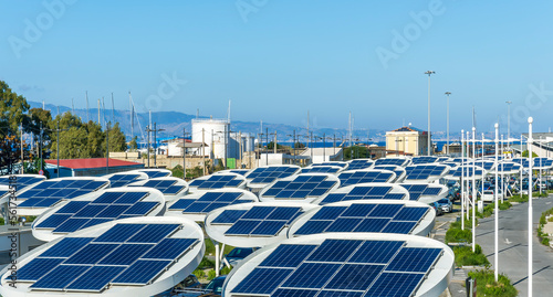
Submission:
{"label": "leftmost fully visible canopy's solar array, just below the red-roofed building", "polygon": [[18,208],[41,209],[53,206],[62,200],[84,195],[105,185],[107,185],[106,181],[94,179],[46,180],[18,194],[18,199],[25,199]]}

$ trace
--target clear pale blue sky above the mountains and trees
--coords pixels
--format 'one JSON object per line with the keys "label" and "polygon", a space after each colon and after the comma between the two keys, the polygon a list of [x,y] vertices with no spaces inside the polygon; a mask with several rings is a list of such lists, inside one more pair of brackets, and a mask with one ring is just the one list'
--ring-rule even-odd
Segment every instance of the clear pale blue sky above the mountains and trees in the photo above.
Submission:
{"label": "clear pale blue sky above the mountains and trees", "polygon": [[85,91],[91,105],[113,92],[123,109],[131,91],[143,110],[225,117],[231,99],[236,120],[305,125],[310,110],[346,128],[352,112],[357,128],[426,129],[432,70],[432,130],[446,129],[446,91],[453,131],[472,106],[490,131],[505,100],[513,130],[529,115],[553,126],[549,1],[0,3],[0,79],[30,100],[84,108]]}

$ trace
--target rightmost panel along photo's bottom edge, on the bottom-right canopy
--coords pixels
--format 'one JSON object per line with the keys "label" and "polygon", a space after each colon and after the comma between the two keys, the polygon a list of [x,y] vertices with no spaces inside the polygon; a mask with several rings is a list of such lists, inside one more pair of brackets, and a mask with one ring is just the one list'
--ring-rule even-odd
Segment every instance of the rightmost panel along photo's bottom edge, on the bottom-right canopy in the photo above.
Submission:
{"label": "rightmost panel along photo's bottom edge, on the bottom-right canopy", "polygon": [[424,274],[383,273],[367,296],[413,296],[424,277]]}

